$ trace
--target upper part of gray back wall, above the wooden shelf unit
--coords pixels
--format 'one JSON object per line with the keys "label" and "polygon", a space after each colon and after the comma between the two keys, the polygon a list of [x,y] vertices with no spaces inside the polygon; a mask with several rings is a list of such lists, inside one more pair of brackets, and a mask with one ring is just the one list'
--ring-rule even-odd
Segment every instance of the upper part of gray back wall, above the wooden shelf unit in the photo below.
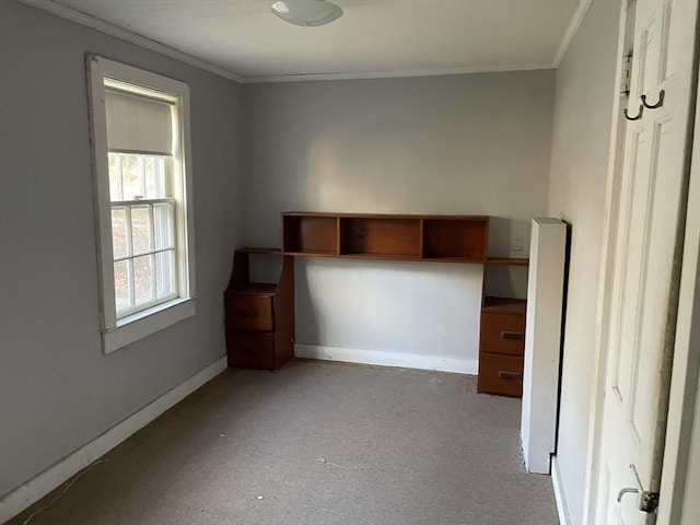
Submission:
{"label": "upper part of gray back wall, above the wooden shelf unit", "polygon": [[546,211],[553,78],[246,85],[248,241],[277,244],[288,209],[483,213],[506,219],[492,233],[508,255],[509,231]]}

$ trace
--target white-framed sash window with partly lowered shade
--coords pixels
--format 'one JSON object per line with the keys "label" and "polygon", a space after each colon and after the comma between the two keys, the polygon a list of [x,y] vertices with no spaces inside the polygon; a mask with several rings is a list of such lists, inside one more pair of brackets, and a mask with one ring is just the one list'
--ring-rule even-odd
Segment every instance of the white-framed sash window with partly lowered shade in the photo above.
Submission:
{"label": "white-framed sash window with partly lowered shade", "polygon": [[195,313],[189,90],[88,56],[103,348]]}

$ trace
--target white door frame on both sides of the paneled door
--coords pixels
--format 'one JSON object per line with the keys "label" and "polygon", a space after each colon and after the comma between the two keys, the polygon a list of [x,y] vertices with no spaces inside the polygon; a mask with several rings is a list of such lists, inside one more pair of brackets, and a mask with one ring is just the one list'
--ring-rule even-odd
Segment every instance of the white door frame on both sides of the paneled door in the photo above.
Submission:
{"label": "white door frame on both sides of the paneled door", "polygon": [[[622,55],[629,48],[633,35],[634,0],[621,1],[620,32],[618,38],[617,71],[622,68]],[[697,67],[697,63],[696,63]],[[617,77],[616,77],[617,81]],[[617,83],[617,82],[616,82]],[[622,149],[625,145],[626,122],[621,116],[621,104],[626,101],[618,96],[616,85],[612,104],[612,131],[610,136],[610,158],[606,185],[606,211],[603,232],[603,253],[600,258],[600,283],[596,317],[596,345],[593,352],[593,402],[588,413],[588,446],[586,452],[586,480],[584,492],[583,523],[593,524],[596,511],[598,466],[600,462],[600,441],[603,427],[603,402],[607,371],[608,349],[606,347],[609,330],[612,279],[612,261],[616,255],[617,212],[620,197],[620,174]],[[698,93],[697,95],[700,95]],[[698,96],[697,107],[700,107]],[[696,405],[700,402],[698,376],[700,373],[700,118],[695,122],[695,141],[690,173],[690,198],[687,203],[687,224],[681,266],[678,322],[670,384],[668,423],[662,470],[662,503],[658,510],[658,525],[681,524],[681,509],[685,494],[700,494],[700,480],[687,476],[688,459],[691,454],[700,454],[700,443],[692,443],[691,435]],[[693,341],[696,348],[693,348]],[[696,424],[700,427],[700,421]],[[686,516],[682,516],[686,520]],[[687,523],[691,523],[688,521]],[[697,523],[697,522],[692,522]]]}

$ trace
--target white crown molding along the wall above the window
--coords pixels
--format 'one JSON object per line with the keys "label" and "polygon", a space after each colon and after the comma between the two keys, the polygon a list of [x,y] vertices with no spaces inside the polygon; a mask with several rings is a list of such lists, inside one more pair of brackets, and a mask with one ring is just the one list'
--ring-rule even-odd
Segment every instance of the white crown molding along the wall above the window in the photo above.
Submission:
{"label": "white crown molding along the wall above the window", "polygon": [[228,71],[223,68],[209,63],[205,60],[201,60],[197,57],[192,57],[183,51],[178,51],[172,47],[168,47],[160,42],[152,40],[147,38],[145,36],[141,36],[131,31],[125,30],[122,27],[118,27],[108,22],[105,22],[100,19],[95,19],[89,14],[85,14],[75,9],[67,8],[66,5],[61,5],[51,0],[18,0],[25,5],[31,8],[38,9],[40,11],[45,11],[49,14],[54,14],[63,20],[68,20],[70,22],[75,22],[77,24],[83,25],[85,27],[90,27],[91,30],[98,31],[100,33],[104,33],[105,35],[114,36],[120,40],[128,42],[130,44],[136,44],[139,47],[143,47],[151,51],[155,51],[160,55],[164,55],[170,58],[174,58],[179,60],[180,62],[185,62],[189,66],[194,66],[195,68],[202,69],[210,73],[217,74],[219,77],[223,77],[224,79],[233,80],[234,82],[243,83],[245,79],[236,73]]}

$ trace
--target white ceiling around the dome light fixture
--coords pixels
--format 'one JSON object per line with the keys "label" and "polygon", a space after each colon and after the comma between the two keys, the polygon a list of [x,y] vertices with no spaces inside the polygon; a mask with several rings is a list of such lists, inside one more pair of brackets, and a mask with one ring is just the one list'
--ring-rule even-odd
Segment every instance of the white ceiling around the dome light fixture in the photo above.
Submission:
{"label": "white ceiling around the dome light fixture", "polygon": [[247,82],[552,68],[590,3],[335,0],[343,16],[299,27],[270,12],[273,0],[22,1],[117,36],[129,35],[108,24],[127,30]]}

